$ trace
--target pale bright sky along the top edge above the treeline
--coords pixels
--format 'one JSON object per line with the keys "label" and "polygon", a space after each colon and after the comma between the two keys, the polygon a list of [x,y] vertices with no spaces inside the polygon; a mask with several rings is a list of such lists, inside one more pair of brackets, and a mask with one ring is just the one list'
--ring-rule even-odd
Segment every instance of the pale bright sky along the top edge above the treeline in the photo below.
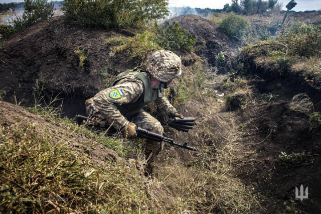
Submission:
{"label": "pale bright sky along the top edge above the treeline", "polygon": [[[23,2],[21,0],[0,0],[0,3]],[[290,0],[279,0],[283,4],[283,10]],[[295,0],[297,5],[293,11],[321,10],[321,0]],[[231,5],[231,0],[169,0],[169,7],[191,7],[191,8],[211,8],[223,9],[225,4]]]}

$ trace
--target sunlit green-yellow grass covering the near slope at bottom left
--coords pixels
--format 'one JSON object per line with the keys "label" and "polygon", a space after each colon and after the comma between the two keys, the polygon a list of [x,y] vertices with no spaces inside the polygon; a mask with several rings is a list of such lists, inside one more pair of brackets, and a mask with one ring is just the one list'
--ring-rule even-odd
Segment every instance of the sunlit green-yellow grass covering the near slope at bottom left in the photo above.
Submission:
{"label": "sunlit green-yellow grass covering the near slope at bottom left", "polygon": [[94,167],[67,139],[40,134],[36,124],[0,126],[0,141],[1,212],[156,210],[146,178],[122,162]]}

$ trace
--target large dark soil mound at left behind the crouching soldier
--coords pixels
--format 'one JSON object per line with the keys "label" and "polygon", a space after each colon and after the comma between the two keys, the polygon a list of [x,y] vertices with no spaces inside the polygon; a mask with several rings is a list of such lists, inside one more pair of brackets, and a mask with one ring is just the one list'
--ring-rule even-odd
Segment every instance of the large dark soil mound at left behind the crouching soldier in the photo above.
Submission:
{"label": "large dark soil mound at left behind the crouching soldier", "polygon": [[[141,59],[128,61],[126,50],[113,53],[111,46],[105,45],[106,39],[134,35],[132,29],[106,31],[69,26],[63,17],[38,22],[18,32],[0,52],[4,101],[33,106],[35,92],[47,99],[59,94],[64,99],[64,116],[85,114],[85,100],[106,88],[110,77],[141,64]],[[85,51],[83,66],[79,65],[76,50]],[[196,61],[195,54],[178,54],[182,55],[183,65]]]}

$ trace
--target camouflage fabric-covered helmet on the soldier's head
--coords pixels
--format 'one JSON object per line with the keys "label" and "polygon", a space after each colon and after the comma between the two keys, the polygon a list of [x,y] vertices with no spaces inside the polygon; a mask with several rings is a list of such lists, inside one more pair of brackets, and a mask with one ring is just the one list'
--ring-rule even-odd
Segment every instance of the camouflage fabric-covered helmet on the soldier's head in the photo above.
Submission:
{"label": "camouflage fabric-covered helmet on the soldier's head", "polygon": [[181,58],[172,51],[156,51],[148,59],[146,69],[157,80],[168,82],[181,75]]}

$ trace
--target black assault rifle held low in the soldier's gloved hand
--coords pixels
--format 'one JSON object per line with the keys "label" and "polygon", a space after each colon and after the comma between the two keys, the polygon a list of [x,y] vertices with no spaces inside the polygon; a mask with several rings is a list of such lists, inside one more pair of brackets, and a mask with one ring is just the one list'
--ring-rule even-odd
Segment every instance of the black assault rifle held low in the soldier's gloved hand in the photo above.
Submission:
{"label": "black assault rifle held low in the soldier's gloved hand", "polygon": [[[110,124],[108,122],[99,122],[97,120],[87,118],[82,115],[77,115],[76,118],[77,118],[77,124],[79,126],[83,123],[83,121],[88,121],[88,122],[90,122],[89,126],[99,127],[99,128],[103,128],[103,129],[110,128]],[[178,147],[182,147],[182,148],[185,148],[188,150],[197,151],[196,148],[188,146],[187,145],[188,142],[185,142],[184,144],[178,144],[178,143],[175,143],[174,140],[171,138],[167,138],[162,135],[158,135],[156,133],[149,132],[148,130],[142,129],[140,127],[135,127],[135,131],[137,133],[138,138],[143,138],[143,139],[152,140],[152,141],[156,141],[156,142],[165,142],[165,143],[169,143],[173,146],[178,146]]]}

